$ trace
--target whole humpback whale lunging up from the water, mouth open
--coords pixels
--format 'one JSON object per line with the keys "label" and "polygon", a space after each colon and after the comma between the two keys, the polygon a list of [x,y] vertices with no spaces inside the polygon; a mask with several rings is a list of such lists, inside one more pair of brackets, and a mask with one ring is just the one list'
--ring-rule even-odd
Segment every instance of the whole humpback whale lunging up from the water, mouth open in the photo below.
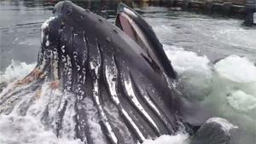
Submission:
{"label": "whole humpback whale lunging up from the water, mouth open", "polygon": [[[89,120],[92,111],[106,143],[133,144],[178,132],[194,135],[198,128],[181,114],[183,101],[175,89],[176,78],[153,29],[134,10],[120,4],[114,26],[88,9],[63,1],[42,25],[37,66],[13,89],[3,92],[0,112],[22,109],[21,116],[37,115],[31,105],[45,96],[40,89],[48,83],[61,94],[58,101],[54,93],[47,95],[54,101],[42,109],[40,119],[59,137],[69,127],[84,143],[97,143],[99,137],[92,134]],[[24,89],[36,96],[20,102]],[[22,107],[15,108],[19,102]],[[204,125],[212,123],[218,125],[214,120]],[[199,131],[198,135],[204,134],[203,129]],[[196,135],[191,140],[198,141]]]}

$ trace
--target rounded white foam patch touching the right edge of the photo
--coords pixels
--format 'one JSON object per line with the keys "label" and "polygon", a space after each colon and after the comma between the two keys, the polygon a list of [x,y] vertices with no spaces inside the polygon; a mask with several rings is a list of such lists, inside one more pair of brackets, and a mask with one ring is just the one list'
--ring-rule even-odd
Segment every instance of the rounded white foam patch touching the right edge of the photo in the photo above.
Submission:
{"label": "rounded white foam patch touching the right edge of the photo", "polygon": [[221,77],[237,83],[256,81],[256,66],[246,57],[230,55],[224,60],[219,60],[214,68]]}

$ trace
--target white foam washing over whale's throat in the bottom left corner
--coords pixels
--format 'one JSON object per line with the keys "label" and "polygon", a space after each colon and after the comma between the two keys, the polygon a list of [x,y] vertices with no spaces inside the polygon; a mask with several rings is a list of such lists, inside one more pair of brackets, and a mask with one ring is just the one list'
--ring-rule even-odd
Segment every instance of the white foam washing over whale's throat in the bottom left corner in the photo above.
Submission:
{"label": "white foam washing over whale's throat in the bottom left corner", "polygon": [[[19,89],[26,88],[21,86]],[[14,89],[15,90],[15,89]],[[24,89],[26,90],[26,89]],[[24,91],[23,90],[23,91]],[[38,89],[36,89],[38,91]],[[39,95],[35,95],[35,91],[26,91],[26,95],[22,95],[20,102],[15,104],[13,111],[9,115],[0,115],[0,143],[1,144],[83,144],[82,141],[75,138],[75,124],[73,116],[74,112],[74,95],[65,95],[58,89],[50,89],[49,83],[44,83]],[[12,95],[9,99],[19,96]],[[32,97],[36,99],[29,104],[28,101]],[[55,134],[56,121],[58,119],[58,107],[60,107],[61,99],[67,100],[67,109],[64,114],[62,129],[60,135]],[[24,101],[24,102],[22,102]],[[27,102],[26,102],[27,101]],[[20,106],[29,105],[24,116],[20,116]],[[0,108],[11,105],[0,105]],[[22,108],[22,107],[21,107]],[[45,115],[45,110],[48,114]],[[23,109],[22,111],[24,111]],[[91,126],[94,127],[94,126]],[[99,137],[97,137],[99,139]]]}

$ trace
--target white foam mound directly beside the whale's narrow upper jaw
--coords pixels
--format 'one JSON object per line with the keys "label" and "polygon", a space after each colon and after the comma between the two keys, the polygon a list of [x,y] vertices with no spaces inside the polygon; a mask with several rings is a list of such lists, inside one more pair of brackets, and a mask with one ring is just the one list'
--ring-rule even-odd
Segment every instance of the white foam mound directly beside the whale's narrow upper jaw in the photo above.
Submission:
{"label": "white foam mound directly beside the whale's narrow upper jaw", "polygon": [[203,99],[212,82],[212,67],[207,56],[175,46],[163,46],[179,76],[179,85],[183,85],[184,93],[189,97]]}

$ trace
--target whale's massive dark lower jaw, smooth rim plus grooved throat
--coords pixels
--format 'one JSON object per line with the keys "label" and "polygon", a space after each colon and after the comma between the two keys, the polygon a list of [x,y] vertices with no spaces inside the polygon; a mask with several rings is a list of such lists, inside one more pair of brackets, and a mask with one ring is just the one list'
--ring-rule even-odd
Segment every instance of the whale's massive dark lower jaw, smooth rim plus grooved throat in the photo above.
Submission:
{"label": "whale's massive dark lower jaw, smooth rim plus grooved throat", "polygon": [[[121,125],[110,121],[105,105],[118,110],[119,120],[136,141],[178,130],[177,95],[153,52],[147,53],[118,27],[70,2],[55,5],[53,18],[42,31],[39,71],[52,73],[53,81],[78,97],[77,105],[90,97],[110,141],[125,142],[118,139]],[[79,118],[84,115],[78,109]],[[83,132],[78,135],[85,139]]]}

